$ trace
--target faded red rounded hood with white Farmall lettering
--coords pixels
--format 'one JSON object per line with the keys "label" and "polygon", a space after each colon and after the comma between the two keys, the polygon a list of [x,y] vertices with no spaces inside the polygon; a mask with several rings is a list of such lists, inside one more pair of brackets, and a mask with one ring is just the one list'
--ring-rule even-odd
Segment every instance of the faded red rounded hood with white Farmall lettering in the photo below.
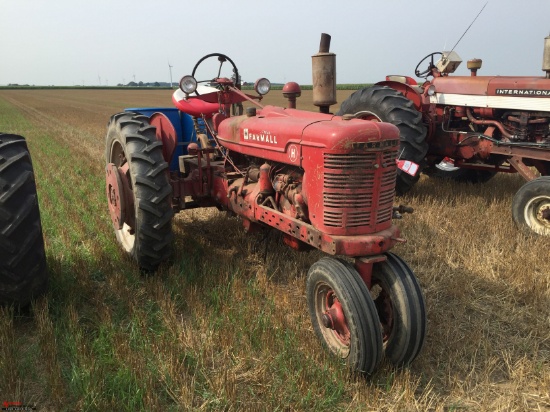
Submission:
{"label": "faded red rounded hood with white Farmall lettering", "polygon": [[230,150],[302,166],[303,147],[362,152],[398,144],[399,130],[389,123],[343,120],[331,114],[266,106],[256,116],[222,121],[217,137]]}

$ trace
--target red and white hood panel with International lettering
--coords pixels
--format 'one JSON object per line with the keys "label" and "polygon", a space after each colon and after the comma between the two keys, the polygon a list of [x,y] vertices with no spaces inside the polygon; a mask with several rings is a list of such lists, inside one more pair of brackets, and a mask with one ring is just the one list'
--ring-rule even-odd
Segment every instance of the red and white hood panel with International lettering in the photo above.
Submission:
{"label": "red and white hood panel with International lettering", "polygon": [[443,76],[432,84],[434,104],[550,111],[550,79],[544,77]]}

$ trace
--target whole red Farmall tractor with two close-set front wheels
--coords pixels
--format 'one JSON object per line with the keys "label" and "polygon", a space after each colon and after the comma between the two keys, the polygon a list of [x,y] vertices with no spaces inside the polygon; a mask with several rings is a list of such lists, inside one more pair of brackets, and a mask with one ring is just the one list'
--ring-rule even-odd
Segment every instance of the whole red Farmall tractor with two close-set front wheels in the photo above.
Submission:
{"label": "whole red Farmall tractor with two close-set front wheels", "polygon": [[[328,39],[313,59],[335,95],[334,73],[323,67],[334,56]],[[197,81],[199,66],[212,60],[215,72]],[[239,78],[229,57],[209,54],[181,79],[176,109],[112,116],[106,190],[119,243],[154,271],[170,254],[174,212],[216,207],[240,216],[249,232],[281,231],[288,246],[329,255],[310,268],[306,290],[325,346],[367,374],[384,355],[408,364],[422,347],[426,314],[415,275],[389,252],[403,242],[392,223],[403,212],[393,205],[399,130],[262,106],[270,83],[258,80],[252,96],[240,90]],[[285,87],[292,98],[295,86]]]}

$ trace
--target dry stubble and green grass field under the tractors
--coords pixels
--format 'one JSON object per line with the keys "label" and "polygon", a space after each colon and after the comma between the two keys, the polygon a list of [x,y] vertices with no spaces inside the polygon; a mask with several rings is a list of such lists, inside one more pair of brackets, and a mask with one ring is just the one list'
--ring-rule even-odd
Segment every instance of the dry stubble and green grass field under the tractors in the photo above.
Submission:
{"label": "dry stubble and green grass field under the tractors", "polygon": [[[266,103],[283,104],[280,92]],[[342,102],[351,91],[339,91]],[[311,91],[298,108],[313,110]],[[216,210],[174,219],[173,265],[144,277],[107,212],[104,137],[125,107],[167,90],[0,90],[0,130],[27,138],[50,291],[0,311],[0,402],[38,410],[550,410],[547,238],[514,227],[522,179],[423,176],[398,199],[394,252],[425,293],[428,332],[406,369],[352,378],[314,336],[305,279],[320,252],[246,236]],[[337,110],[337,107],[333,107]]]}

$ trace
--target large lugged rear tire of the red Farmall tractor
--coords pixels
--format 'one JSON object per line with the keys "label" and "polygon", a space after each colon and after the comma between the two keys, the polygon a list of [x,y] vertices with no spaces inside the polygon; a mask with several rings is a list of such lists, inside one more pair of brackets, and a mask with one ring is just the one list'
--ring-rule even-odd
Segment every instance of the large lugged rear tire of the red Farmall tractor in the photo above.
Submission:
{"label": "large lugged rear tire of the red Farmall tractor", "polygon": [[170,257],[174,215],[168,163],[155,130],[147,116],[116,114],[109,122],[105,149],[107,166],[112,163],[126,170],[133,199],[122,229],[114,225],[117,240],[140,269],[149,272]]}

